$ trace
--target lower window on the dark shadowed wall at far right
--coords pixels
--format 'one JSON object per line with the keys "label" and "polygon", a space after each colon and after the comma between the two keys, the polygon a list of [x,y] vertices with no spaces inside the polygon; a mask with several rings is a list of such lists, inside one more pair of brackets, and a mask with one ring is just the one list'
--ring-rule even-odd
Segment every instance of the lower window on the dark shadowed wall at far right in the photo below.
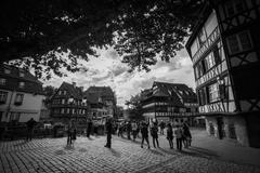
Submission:
{"label": "lower window on the dark shadowed wall at far right", "polygon": [[239,53],[250,50],[252,48],[249,31],[243,31],[227,37],[226,42],[229,44],[230,54]]}

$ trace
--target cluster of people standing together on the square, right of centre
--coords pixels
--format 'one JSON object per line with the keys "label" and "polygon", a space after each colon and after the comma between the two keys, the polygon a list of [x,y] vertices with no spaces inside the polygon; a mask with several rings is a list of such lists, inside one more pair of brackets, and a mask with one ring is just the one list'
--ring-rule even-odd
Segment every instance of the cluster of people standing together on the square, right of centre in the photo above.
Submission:
{"label": "cluster of people standing together on the square, right of centre", "polygon": [[148,132],[151,133],[151,136],[153,138],[153,146],[154,148],[159,148],[159,141],[158,141],[158,130],[160,128],[160,134],[165,134],[165,129],[167,131],[166,138],[169,142],[169,146],[171,149],[173,149],[173,138],[176,138],[177,143],[177,149],[182,150],[182,144],[185,148],[191,146],[192,143],[192,135],[190,128],[186,122],[182,124],[173,125],[171,122],[168,122],[167,124],[161,121],[159,124],[157,121],[154,121],[152,124],[150,124],[146,121],[136,122],[136,121],[128,121],[128,122],[121,122],[118,124],[118,136],[123,137],[123,132],[127,133],[128,139],[131,139],[130,134],[133,136],[133,141],[135,141],[136,136],[139,136],[139,132],[141,132],[142,135],[142,142],[141,147],[143,148],[144,142],[147,143],[147,146],[150,148],[150,139],[148,139]]}

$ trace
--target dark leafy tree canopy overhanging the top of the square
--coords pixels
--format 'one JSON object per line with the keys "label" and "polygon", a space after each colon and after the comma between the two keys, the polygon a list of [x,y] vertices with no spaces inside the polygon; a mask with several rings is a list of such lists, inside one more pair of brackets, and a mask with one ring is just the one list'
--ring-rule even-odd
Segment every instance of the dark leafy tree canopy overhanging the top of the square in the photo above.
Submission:
{"label": "dark leafy tree canopy overhanging the top of the square", "polygon": [[[79,70],[78,59],[114,46],[131,70],[150,70],[155,56],[168,62],[183,48],[204,0],[3,0],[1,63],[36,75]],[[68,59],[62,58],[64,53]],[[42,67],[44,68],[44,71]]]}

